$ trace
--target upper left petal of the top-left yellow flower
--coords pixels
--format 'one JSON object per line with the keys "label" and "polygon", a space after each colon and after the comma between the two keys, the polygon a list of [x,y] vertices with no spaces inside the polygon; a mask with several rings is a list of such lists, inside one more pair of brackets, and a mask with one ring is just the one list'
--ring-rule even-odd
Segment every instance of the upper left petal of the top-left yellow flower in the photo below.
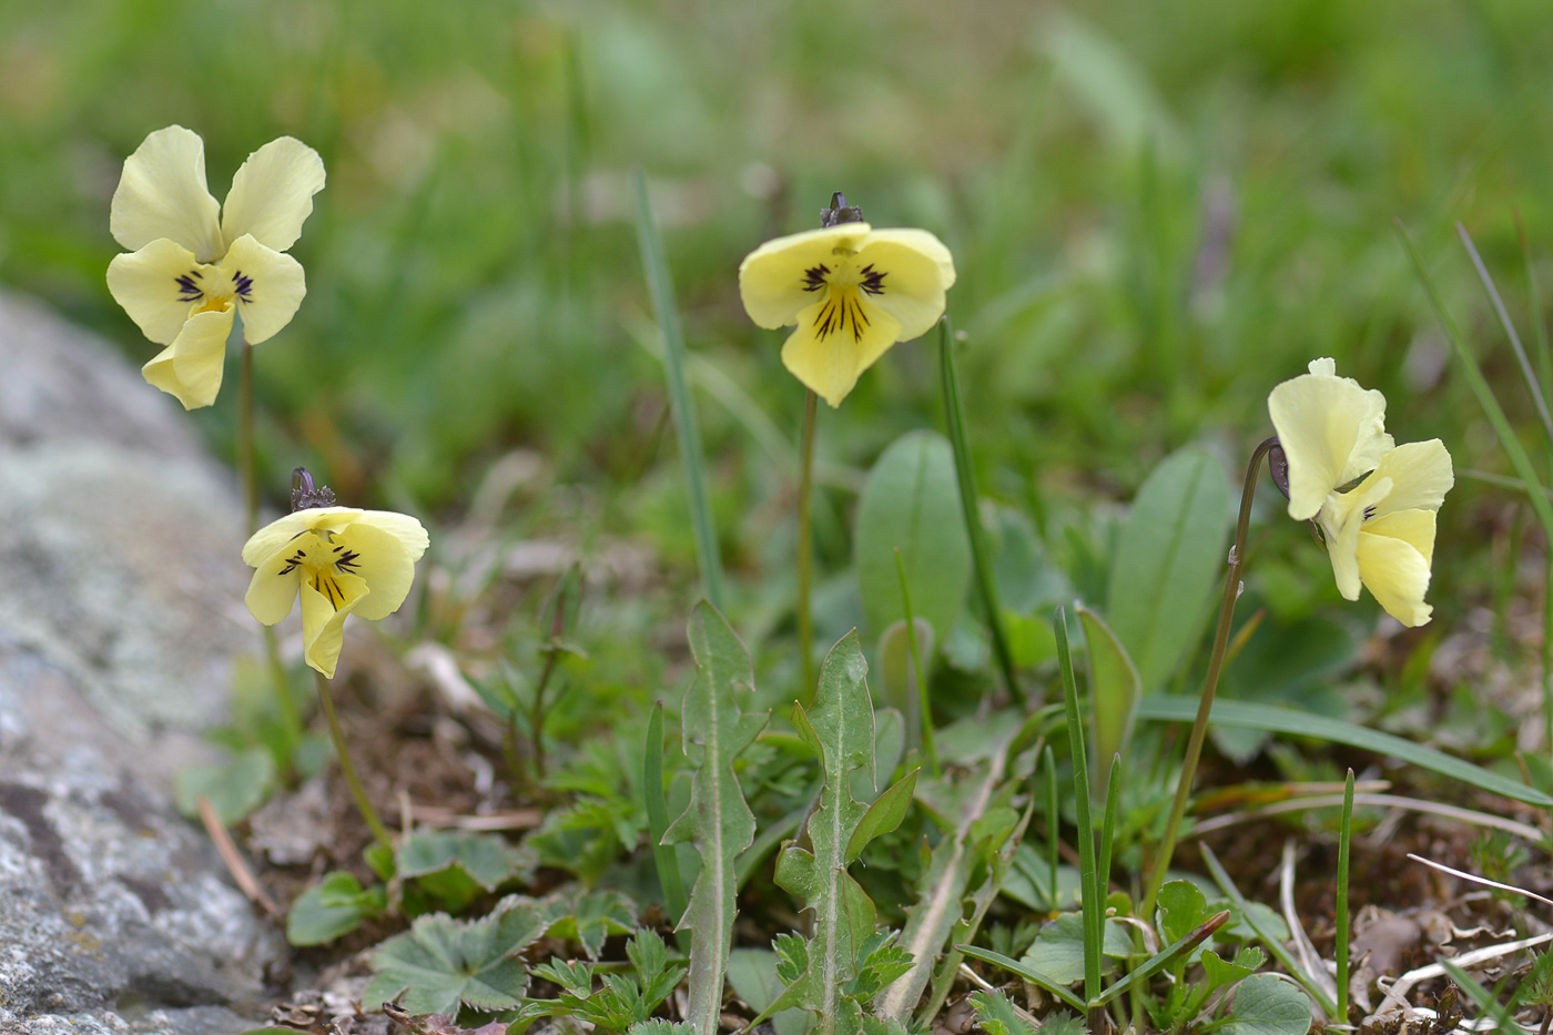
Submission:
{"label": "upper left petal of the top-left yellow flower", "polygon": [[205,141],[182,126],[146,137],[124,159],[124,172],[109,214],[113,239],[138,252],[157,238],[169,238],[202,263],[221,258],[217,213],[205,186]]}

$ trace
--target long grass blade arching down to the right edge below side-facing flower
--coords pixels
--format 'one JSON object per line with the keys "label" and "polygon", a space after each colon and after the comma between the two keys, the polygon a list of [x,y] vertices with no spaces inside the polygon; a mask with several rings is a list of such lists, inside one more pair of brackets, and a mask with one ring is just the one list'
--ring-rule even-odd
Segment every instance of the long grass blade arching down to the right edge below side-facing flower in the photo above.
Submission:
{"label": "long grass blade arching down to the right edge below side-facing flower", "polygon": [[[1149,696],[1138,702],[1138,718],[1166,723],[1191,723],[1197,716],[1197,698],[1188,696]],[[1238,726],[1242,729],[1264,729],[1289,737],[1314,737],[1334,744],[1348,744],[1388,755],[1401,761],[1410,761],[1424,769],[1432,769],[1440,775],[1461,780],[1471,786],[1491,794],[1499,794],[1516,802],[1536,805],[1537,808],[1553,808],[1553,797],[1542,791],[1517,783],[1497,772],[1480,769],[1471,761],[1461,761],[1441,754],[1432,748],[1415,744],[1410,740],[1381,734],[1364,726],[1343,723],[1342,720],[1280,709],[1266,704],[1250,704],[1249,701],[1214,701],[1210,723],[1222,726]]]}

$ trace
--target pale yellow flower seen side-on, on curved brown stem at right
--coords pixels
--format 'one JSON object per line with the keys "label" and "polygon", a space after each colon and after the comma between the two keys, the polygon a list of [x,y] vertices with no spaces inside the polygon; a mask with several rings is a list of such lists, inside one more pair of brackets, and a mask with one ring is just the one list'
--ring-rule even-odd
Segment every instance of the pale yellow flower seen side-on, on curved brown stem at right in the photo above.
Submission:
{"label": "pale yellow flower seen side-on, on curved brown stem at right", "polygon": [[1320,527],[1337,592],[1359,600],[1365,586],[1402,625],[1429,622],[1435,513],[1455,483],[1444,444],[1393,446],[1385,398],[1337,378],[1331,359],[1273,389],[1267,410],[1287,460],[1289,516]]}

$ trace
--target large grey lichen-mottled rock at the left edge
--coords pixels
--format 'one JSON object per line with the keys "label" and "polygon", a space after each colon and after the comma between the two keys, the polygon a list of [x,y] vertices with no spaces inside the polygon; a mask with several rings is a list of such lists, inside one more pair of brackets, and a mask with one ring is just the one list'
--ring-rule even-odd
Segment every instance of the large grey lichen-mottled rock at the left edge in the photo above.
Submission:
{"label": "large grey lichen-mottled rock at the left edge", "polygon": [[256,642],[236,490],[118,353],[5,294],[0,368],[0,1032],[261,1027],[284,940],[171,802]]}

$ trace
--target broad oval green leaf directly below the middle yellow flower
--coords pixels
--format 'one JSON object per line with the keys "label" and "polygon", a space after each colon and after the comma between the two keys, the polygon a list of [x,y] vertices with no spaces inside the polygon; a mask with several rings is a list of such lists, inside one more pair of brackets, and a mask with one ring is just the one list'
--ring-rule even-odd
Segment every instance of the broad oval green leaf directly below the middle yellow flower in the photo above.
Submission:
{"label": "broad oval green leaf directly below the middle yellow flower", "polygon": [[857,500],[857,587],[868,628],[905,620],[895,550],[901,550],[912,611],[943,643],[971,586],[971,544],[949,441],[930,430],[896,438],[879,457]]}

